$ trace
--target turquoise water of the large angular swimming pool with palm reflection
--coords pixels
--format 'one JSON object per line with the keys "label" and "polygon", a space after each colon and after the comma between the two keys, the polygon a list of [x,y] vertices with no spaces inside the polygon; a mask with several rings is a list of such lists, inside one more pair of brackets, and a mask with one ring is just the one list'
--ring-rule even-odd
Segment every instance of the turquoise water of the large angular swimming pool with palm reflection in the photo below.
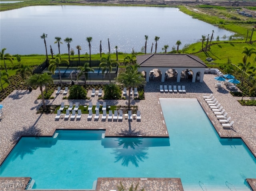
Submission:
{"label": "turquoise water of the large angular swimming pool with palm reflection", "polygon": [[256,159],[242,140],[220,139],[197,100],[160,103],[170,138],[104,138],[97,130],[23,137],[1,177],[32,177],[36,189],[92,189],[98,177],[180,177],[183,185],[244,187],[246,178],[256,178]]}

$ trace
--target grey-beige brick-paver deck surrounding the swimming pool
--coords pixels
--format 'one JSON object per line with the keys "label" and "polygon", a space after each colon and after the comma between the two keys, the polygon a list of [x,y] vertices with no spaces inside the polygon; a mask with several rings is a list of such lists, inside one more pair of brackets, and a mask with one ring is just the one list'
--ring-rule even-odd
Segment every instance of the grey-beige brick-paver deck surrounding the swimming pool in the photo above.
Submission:
{"label": "grey-beige brick-paver deck surrounding the swimming pool", "polygon": [[[4,105],[2,110],[5,116],[0,122],[0,161],[2,163],[20,136],[35,136],[39,133],[40,136],[52,136],[56,129],[95,129],[96,127],[96,129],[106,129],[106,136],[168,136],[159,98],[197,98],[220,136],[227,137],[228,132],[232,132],[234,137],[242,137],[254,156],[256,156],[256,106],[241,106],[237,102],[241,98],[233,97],[226,86],[222,86],[222,89],[215,87],[216,81],[214,77],[216,75],[205,74],[203,83],[191,83],[191,81],[161,83],[150,81],[144,89],[145,100],[131,100],[131,104],[137,105],[138,110],[141,111],[141,122],[137,122],[136,120],[128,121],[126,119],[123,119],[122,122],[108,122],[102,121],[101,116],[99,120],[94,120],[93,117],[92,120],[88,121],[87,114],[82,114],[80,120],[70,120],[70,118],[68,120],[64,120],[63,118],[55,120],[56,114],[36,114],[36,111],[41,105],[40,100],[37,100],[40,94],[39,89],[33,90],[32,92],[28,90],[13,91],[0,103]],[[159,85],[169,84],[185,85],[186,93],[160,93]],[[222,128],[220,122],[218,122],[213,112],[203,100],[202,96],[210,95],[211,93],[213,93],[226,112],[228,112],[228,116],[231,116],[231,120],[234,120],[233,130]],[[88,97],[90,97],[90,94],[91,91],[88,91]],[[85,105],[92,101],[93,105],[96,105],[97,101],[100,104],[106,101],[107,105],[127,105],[128,102],[128,100],[99,100],[97,95],[90,98],[90,100],[63,100],[63,96],[59,94],[53,100],[46,100],[46,104],[60,105],[61,102],[65,102],[65,105],[68,105],[70,101],[73,101],[74,103],[80,102],[80,105]],[[115,190],[116,181],[118,183],[120,181],[118,178],[100,180],[98,179],[97,190],[102,191]],[[133,180],[134,183],[136,181],[145,181],[140,179],[123,179],[122,183],[129,184]],[[156,186],[158,184],[156,180],[159,184],[163,184],[160,186],[162,189],[158,190],[183,190],[182,186],[180,186],[180,179],[149,179],[146,184],[148,187],[153,188],[154,185]],[[1,184],[17,183],[19,181],[24,181],[24,179],[12,178],[11,180],[1,178]],[[170,182],[172,181],[173,184],[171,185],[173,186],[170,186]],[[256,190],[256,179],[250,179],[249,181],[253,190]],[[14,189],[6,188],[4,190]]]}

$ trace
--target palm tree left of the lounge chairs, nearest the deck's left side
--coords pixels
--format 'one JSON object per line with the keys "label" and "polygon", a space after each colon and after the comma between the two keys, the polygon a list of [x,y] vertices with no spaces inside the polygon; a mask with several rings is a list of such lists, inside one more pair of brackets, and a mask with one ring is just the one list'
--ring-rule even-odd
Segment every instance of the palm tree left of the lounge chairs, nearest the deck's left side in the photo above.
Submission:
{"label": "palm tree left of the lounge chairs, nearest the deck's left side", "polygon": [[48,75],[47,73],[34,74],[34,75],[30,76],[27,79],[27,84],[28,85],[39,86],[40,91],[41,91],[41,96],[42,96],[42,102],[43,102],[44,109],[46,109],[46,104],[45,104],[45,101],[44,101],[43,86],[46,86],[46,85],[52,84],[52,83],[53,83],[52,77],[50,75]]}

